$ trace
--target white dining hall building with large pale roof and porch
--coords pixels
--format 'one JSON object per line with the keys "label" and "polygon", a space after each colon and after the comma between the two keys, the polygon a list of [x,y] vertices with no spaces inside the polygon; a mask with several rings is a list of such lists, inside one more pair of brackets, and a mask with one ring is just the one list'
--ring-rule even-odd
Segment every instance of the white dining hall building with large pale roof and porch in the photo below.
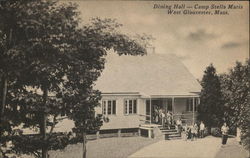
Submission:
{"label": "white dining hall building with large pale roof and porch", "polygon": [[108,55],[95,88],[102,92],[96,113],[107,118],[101,131],[158,127],[159,110],[196,122],[201,86],[175,55]]}

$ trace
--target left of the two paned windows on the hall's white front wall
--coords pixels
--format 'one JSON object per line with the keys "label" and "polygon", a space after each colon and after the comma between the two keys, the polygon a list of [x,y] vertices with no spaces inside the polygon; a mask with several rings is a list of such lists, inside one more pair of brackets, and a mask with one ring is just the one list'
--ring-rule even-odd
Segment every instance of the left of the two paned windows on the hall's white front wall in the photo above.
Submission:
{"label": "left of the two paned windows on the hall's white front wall", "polygon": [[103,100],[102,101],[102,114],[103,115],[116,114],[116,100]]}

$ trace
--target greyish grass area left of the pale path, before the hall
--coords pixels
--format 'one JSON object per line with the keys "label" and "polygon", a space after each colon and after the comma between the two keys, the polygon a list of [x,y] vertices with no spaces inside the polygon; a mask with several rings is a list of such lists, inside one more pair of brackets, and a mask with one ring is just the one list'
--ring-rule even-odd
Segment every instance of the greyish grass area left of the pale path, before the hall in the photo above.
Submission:
{"label": "greyish grass area left of the pale path, before the hall", "polygon": [[[137,150],[157,142],[144,137],[113,137],[88,141],[87,158],[127,158]],[[64,151],[51,151],[50,158],[81,158],[82,144],[69,145]]]}

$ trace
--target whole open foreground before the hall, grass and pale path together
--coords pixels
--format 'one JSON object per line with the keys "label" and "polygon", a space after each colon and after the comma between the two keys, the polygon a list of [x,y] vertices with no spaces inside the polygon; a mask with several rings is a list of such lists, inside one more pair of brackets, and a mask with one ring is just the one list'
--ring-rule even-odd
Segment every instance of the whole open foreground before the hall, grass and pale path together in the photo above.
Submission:
{"label": "whole open foreground before the hall, grass and pale path together", "polygon": [[[49,153],[50,158],[82,158],[82,144],[69,145],[63,151],[50,151]],[[113,137],[87,143],[87,158],[127,158],[128,156],[136,158],[249,158],[249,153],[239,145],[235,138],[229,138],[227,145],[221,147],[221,138],[213,136],[196,141]]]}

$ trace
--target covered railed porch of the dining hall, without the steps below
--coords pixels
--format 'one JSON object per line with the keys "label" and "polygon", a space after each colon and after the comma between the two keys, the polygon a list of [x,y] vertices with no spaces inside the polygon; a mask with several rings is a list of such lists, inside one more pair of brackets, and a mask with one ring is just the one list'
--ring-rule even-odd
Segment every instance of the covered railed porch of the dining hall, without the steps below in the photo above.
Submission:
{"label": "covered railed porch of the dining hall, without the steps below", "polygon": [[172,124],[180,119],[182,124],[188,126],[196,122],[200,98],[193,96],[150,96],[145,97],[145,114],[140,114],[140,122],[143,124],[162,125],[161,114],[171,114]]}

